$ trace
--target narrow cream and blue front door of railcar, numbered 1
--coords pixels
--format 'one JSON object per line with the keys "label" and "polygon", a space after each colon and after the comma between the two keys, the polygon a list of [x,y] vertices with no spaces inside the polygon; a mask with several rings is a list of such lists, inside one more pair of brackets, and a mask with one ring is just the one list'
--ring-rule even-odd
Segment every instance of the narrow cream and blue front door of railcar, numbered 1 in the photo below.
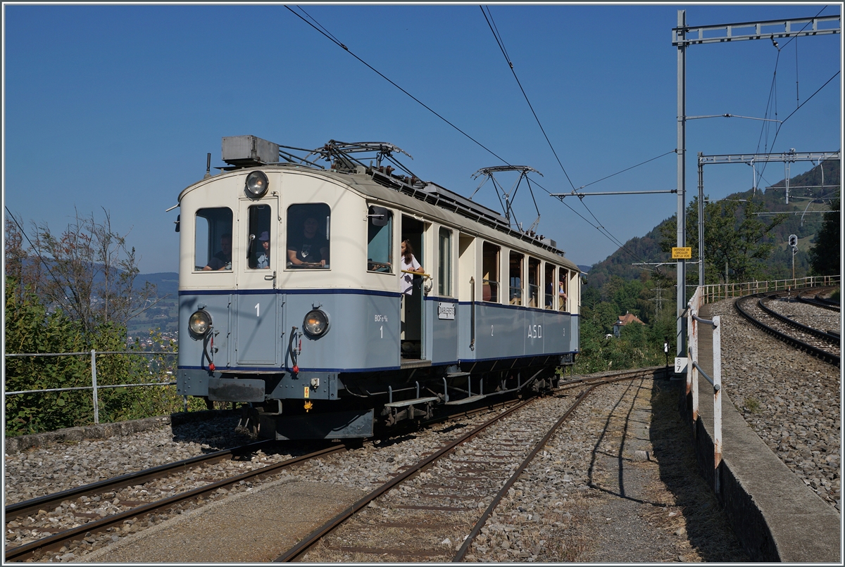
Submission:
{"label": "narrow cream and blue front door of railcar, numbered 1", "polygon": [[[276,293],[277,262],[283,262],[279,212],[275,197],[239,202],[235,319],[238,366],[280,366],[281,322]],[[256,369],[259,370],[259,369]]]}

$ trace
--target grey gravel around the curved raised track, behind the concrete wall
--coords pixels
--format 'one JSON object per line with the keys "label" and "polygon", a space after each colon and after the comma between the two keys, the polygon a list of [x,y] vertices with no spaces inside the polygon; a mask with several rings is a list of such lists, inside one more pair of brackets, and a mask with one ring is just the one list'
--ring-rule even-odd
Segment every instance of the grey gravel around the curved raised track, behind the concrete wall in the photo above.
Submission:
{"label": "grey gravel around the curved raised track, behind the concrete wall", "polygon": [[[842,326],[840,315],[815,305],[770,305],[815,328]],[[710,310],[722,317],[722,382],[734,406],[793,473],[841,512],[841,370],[752,326],[733,300]]]}

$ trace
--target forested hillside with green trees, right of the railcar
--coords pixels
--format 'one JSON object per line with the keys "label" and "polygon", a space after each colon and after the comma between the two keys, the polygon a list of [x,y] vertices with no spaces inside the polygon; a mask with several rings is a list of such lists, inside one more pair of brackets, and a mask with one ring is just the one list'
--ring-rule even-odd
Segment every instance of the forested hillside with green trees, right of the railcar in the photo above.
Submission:
{"label": "forested hillside with green trees, right of the railcar", "polygon": [[[795,277],[812,273],[810,251],[826,216],[838,208],[838,161],[826,161],[789,181],[786,202],[784,180],[765,190],[733,193],[717,202],[705,195],[706,283],[792,278],[789,235],[799,238]],[[687,208],[687,242],[698,256],[698,198]],[[586,274],[581,300],[581,350],[576,370],[595,371],[631,365],[662,364],[663,342],[674,353],[675,215],[645,236],[625,242]],[[838,227],[836,227],[838,228]],[[836,233],[838,235],[838,232]],[[841,254],[841,251],[839,251]],[[835,251],[825,252],[834,256]],[[666,262],[662,266],[658,264]],[[836,266],[838,262],[827,265]],[[727,273],[726,273],[727,272]],[[698,283],[698,267],[690,264],[687,283]],[[619,339],[607,338],[619,316],[632,313],[645,325],[631,324]]]}

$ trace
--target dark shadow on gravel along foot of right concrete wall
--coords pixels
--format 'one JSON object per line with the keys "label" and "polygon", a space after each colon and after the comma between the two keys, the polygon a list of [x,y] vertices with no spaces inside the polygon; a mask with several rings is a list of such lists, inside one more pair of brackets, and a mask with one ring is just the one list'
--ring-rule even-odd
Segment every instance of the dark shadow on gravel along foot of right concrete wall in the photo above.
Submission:
{"label": "dark shadow on gravel along foot of right concrete wall", "polygon": [[[750,561],[698,470],[692,431],[678,412],[679,387],[655,380],[651,390],[651,446],[660,479],[686,522],[687,537],[707,562]],[[681,382],[683,384],[683,382]]]}

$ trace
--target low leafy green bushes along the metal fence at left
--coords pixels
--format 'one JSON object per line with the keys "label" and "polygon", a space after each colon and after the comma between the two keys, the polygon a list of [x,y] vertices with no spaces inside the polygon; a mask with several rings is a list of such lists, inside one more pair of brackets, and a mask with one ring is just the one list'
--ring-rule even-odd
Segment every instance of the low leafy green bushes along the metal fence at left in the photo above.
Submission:
{"label": "low leafy green bushes along the metal fence at left", "polygon": [[[6,279],[6,353],[86,353],[56,357],[7,357],[6,392],[91,386],[93,348],[101,351],[138,350],[127,348],[126,329],[108,323],[85,332],[63,311],[50,311],[29,289],[20,289]],[[176,366],[176,345],[159,333],[150,333],[152,350],[174,354],[97,354],[97,385],[139,384],[172,381],[168,370]],[[98,387],[101,423],[141,419],[181,411],[183,398],[176,386]],[[192,408],[204,408],[193,400]],[[91,390],[34,392],[6,397],[6,435],[25,435],[94,423]]]}

